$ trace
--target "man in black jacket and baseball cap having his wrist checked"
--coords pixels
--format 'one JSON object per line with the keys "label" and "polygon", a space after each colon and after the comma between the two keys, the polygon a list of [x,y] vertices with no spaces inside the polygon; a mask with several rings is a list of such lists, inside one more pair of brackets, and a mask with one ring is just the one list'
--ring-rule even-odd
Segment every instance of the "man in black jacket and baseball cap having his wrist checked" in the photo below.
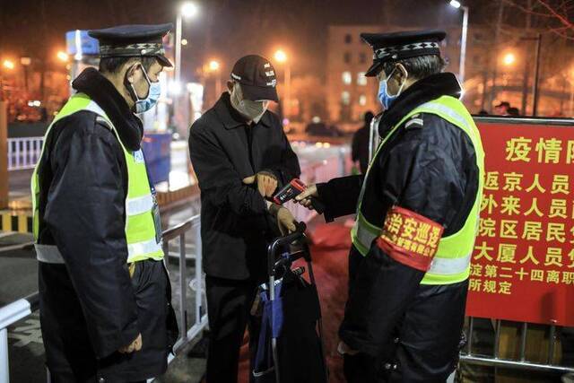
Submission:
{"label": "man in black jacket and baseball cap having his wrist checked", "polygon": [[291,213],[271,202],[278,187],[300,175],[281,121],[266,110],[270,100],[278,100],[275,85],[268,60],[240,58],[229,92],[189,131],[189,153],[201,189],[209,383],[237,380],[249,309],[257,285],[265,280],[267,245],[280,234],[277,229],[295,229]]}

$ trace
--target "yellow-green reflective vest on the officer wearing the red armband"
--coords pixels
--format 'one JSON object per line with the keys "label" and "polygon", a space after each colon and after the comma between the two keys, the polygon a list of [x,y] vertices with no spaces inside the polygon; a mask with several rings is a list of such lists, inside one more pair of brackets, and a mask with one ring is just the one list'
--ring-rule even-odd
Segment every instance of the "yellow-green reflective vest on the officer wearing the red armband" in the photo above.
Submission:
{"label": "yellow-green reflective vest on the officer wearing the red armband", "polygon": [[[396,126],[393,126],[390,133],[379,144],[377,153],[387,143],[388,138],[393,135],[404,121],[418,113],[431,113],[446,119],[451,124],[461,128],[471,139],[476,153],[476,165],[479,169],[479,187],[474,200],[473,208],[466,217],[465,224],[456,233],[443,237],[439,242],[437,254],[431,262],[429,271],[422,279],[422,284],[449,284],[458,283],[468,278],[470,261],[474,249],[474,239],[478,229],[478,216],[480,213],[480,203],[483,194],[483,174],[484,174],[484,152],[480,134],[474,125],[474,121],[464,105],[457,99],[450,96],[443,96],[437,100],[432,100],[413,109]],[[372,241],[380,235],[381,228],[368,222],[361,213],[362,197],[366,189],[366,179],[369,177],[369,170],[363,181],[361,196],[357,208],[357,219],[352,228],[352,243],[359,252],[366,256],[369,253]]]}

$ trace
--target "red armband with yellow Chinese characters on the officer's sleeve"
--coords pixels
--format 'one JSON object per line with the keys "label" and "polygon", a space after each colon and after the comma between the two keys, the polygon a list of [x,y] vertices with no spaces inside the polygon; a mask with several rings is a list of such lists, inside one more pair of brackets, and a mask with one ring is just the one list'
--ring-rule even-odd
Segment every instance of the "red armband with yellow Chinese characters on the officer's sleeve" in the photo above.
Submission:
{"label": "red armband with yellow Chinese characters on the officer's sleeve", "polygon": [[387,213],[377,245],[396,262],[426,272],[437,254],[443,231],[441,224],[396,206]]}

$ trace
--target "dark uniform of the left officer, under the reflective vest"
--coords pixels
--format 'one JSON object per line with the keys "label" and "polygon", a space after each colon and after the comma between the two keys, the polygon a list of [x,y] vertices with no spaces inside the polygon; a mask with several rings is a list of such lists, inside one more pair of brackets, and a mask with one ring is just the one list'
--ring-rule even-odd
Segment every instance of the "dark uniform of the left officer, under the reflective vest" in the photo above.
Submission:
{"label": "dark uniform of the left officer, under the reflective vest", "polygon": [[[95,69],[74,88],[88,94],[116,126],[126,148],[139,150],[142,123]],[[160,375],[172,343],[170,284],[161,262],[126,259],[124,152],[91,111],[52,127],[40,160],[39,243],[54,244],[65,265],[39,264],[40,321],[54,381],[134,381]],[[177,325],[170,327],[177,335]],[[117,349],[142,334],[143,349]]]}

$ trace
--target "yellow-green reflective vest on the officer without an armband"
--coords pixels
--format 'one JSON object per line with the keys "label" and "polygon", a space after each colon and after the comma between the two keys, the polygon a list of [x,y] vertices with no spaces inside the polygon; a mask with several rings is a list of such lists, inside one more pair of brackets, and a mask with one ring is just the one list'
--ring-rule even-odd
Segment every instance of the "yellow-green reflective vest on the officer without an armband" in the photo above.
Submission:
{"label": "yellow-green reflective vest on the officer without an armband", "polygon": [[[105,122],[114,135],[116,135],[117,141],[124,152],[127,168],[127,196],[125,201],[127,262],[132,263],[150,258],[161,260],[163,258],[163,249],[161,248],[161,242],[158,243],[156,240],[152,213],[155,200],[152,196],[143,153],[141,151],[129,152],[126,150],[119,135],[117,135],[115,126],[100,106],[83,93],[75,94],[67,101],[64,108],[60,110],[57,117],[54,118],[54,121],[48,126],[44,143],[48,142],[47,139],[51,128],[58,120],[82,110],[89,110],[97,114],[97,119]],[[43,156],[44,150],[45,147],[43,146],[40,159]],[[36,169],[34,169],[31,179],[32,207],[34,212],[33,231],[36,239],[38,239],[39,234],[38,170],[39,164],[36,166]],[[36,253],[38,260],[41,262],[64,263],[64,259],[56,246],[37,244]]]}

